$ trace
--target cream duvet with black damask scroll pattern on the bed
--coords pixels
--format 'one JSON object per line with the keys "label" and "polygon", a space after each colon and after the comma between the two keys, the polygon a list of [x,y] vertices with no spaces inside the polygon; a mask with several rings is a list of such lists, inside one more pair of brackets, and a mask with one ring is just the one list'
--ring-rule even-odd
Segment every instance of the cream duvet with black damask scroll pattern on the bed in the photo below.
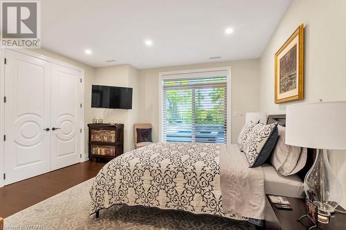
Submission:
{"label": "cream duvet with black damask scroll pattern on the bed", "polygon": [[128,204],[247,220],[222,209],[220,151],[220,144],[161,143],[120,155],[96,176],[91,213]]}

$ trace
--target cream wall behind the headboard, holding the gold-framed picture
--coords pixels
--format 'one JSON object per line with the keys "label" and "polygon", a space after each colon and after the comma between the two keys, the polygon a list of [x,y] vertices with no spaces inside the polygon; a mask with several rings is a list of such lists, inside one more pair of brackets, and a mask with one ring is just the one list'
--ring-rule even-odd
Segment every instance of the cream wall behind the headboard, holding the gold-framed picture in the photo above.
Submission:
{"label": "cream wall behind the headboard, holding the gold-framed picture", "polygon": [[[346,1],[293,0],[260,59],[261,111],[285,113],[300,102],[346,100]],[[304,23],[304,100],[274,104],[274,54]],[[346,140],[345,140],[346,141]],[[346,152],[329,154],[331,166],[343,184],[346,207]]]}

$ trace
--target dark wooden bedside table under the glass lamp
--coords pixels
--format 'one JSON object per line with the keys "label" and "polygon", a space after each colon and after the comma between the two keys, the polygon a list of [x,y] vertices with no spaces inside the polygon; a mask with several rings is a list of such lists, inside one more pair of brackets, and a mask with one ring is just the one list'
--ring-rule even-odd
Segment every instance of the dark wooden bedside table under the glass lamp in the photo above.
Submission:
{"label": "dark wooden bedside table under the glass lamp", "polygon": [[[275,207],[268,195],[266,195],[266,229],[272,230],[307,230],[309,228],[304,227],[302,222],[299,222],[298,219],[305,215],[305,200],[300,198],[287,198],[291,203],[292,210],[280,210]],[[339,210],[345,211],[345,209],[338,207]],[[311,224],[309,220],[303,220],[304,224]],[[339,230],[345,229],[346,226],[346,215],[341,213],[334,213],[331,215],[329,224],[318,223],[319,227],[323,230]]]}

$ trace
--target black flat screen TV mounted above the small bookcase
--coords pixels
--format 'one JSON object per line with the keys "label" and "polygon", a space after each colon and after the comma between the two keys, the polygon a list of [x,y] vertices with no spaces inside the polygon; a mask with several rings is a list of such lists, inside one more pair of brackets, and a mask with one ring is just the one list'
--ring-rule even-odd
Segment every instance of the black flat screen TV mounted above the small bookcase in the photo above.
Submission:
{"label": "black flat screen TV mounted above the small bookcase", "polygon": [[132,88],[93,85],[91,107],[131,109]]}

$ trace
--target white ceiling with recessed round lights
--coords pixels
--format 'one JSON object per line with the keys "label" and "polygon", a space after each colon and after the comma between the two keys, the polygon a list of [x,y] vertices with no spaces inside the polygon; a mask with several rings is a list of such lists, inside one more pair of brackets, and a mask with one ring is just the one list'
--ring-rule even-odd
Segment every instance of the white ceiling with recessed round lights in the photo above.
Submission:
{"label": "white ceiling with recessed round lights", "polygon": [[[42,0],[42,47],[94,67],[258,58],[290,2]],[[233,32],[226,35],[226,28]]]}

